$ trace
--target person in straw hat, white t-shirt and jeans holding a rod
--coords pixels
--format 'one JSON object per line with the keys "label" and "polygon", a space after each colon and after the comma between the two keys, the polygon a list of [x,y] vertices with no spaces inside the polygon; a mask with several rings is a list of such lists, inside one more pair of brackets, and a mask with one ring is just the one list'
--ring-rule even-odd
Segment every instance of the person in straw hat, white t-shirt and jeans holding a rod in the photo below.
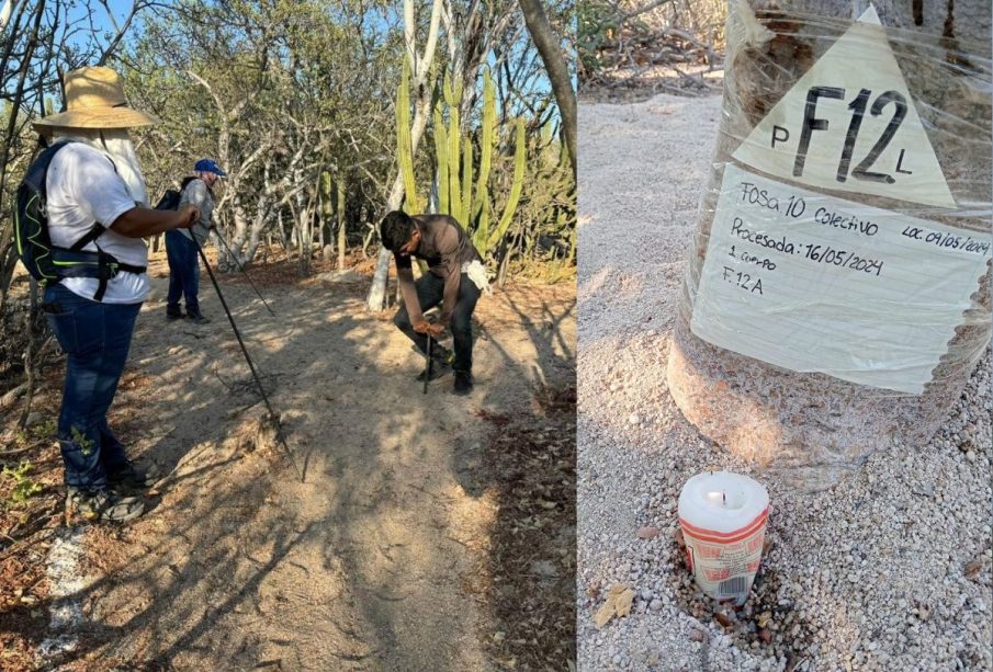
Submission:
{"label": "person in straw hat, white t-shirt and jeans holding a rod", "polygon": [[110,277],[77,275],[45,283],[42,309],[66,353],[58,420],[66,506],[90,520],[121,522],[144,512],[142,500],[128,494],[147,486],[147,475],[127,458],[106,420],[148,296],[143,238],[188,228],[200,212],[192,205],[148,208],[127,129],[158,119],[127,106],[117,72],[104,67],[67,72],[65,91],[66,111],[33,123],[54,140],[42,155],[50,161],[45,176],[48,234],[58,248],[114,260]]}

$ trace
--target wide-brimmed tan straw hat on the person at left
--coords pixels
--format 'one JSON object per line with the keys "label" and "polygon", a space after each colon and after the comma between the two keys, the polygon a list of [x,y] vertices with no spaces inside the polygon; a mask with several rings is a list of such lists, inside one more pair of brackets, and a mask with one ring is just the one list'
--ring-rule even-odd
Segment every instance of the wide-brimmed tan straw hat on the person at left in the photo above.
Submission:
{"label": "wide-brimmed tan straw hat on the person at left", "polygon": [[60,128],[134,128],[158,124],[150,114],[127,107],[121,76],[110,68],[66,72],[66,111],[34,122],[37,130]]}

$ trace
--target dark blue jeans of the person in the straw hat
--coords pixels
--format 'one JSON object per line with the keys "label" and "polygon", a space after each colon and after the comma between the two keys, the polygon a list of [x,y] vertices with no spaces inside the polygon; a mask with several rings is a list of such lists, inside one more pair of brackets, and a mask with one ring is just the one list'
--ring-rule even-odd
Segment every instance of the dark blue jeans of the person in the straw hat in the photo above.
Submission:
{"label": "dark blue jeans of the person in the straw hat", "polygon": [[66,383],[58,441],[66,485],[106,487],[106,475],[124,466],[124,446],[106,413],[117,392],[142,304],[101,304],[61,285],[45,288],[48,324],[66,353]]}

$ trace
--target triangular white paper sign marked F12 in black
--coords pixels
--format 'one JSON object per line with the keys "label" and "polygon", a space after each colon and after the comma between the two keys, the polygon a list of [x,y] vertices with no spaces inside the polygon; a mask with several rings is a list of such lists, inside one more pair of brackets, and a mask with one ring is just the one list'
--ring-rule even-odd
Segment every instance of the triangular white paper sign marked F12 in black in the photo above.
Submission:
{"label": "triangular white paper sign marked F12 in black", "polygon": [[733,156],[820,189],[956,205],[871,7]]}

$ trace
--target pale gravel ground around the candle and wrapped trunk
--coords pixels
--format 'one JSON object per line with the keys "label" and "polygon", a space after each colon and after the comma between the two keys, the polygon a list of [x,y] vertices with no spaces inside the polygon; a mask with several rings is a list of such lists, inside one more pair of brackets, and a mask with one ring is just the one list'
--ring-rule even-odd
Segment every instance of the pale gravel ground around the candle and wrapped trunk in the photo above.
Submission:
{"label": "pale gravel ground around the candle and wrapped trunk", "polygon": [[[724,453],[665,384],[720,98],[579,113],[579,669],[993,669],[989,351],[930,443],[876,453],[830,490]],[[674,537],[682,483],[718,467],[771,499],[772,546],[740,612],[696,590]],[[617,584],[631,614],[598,629]]]}

